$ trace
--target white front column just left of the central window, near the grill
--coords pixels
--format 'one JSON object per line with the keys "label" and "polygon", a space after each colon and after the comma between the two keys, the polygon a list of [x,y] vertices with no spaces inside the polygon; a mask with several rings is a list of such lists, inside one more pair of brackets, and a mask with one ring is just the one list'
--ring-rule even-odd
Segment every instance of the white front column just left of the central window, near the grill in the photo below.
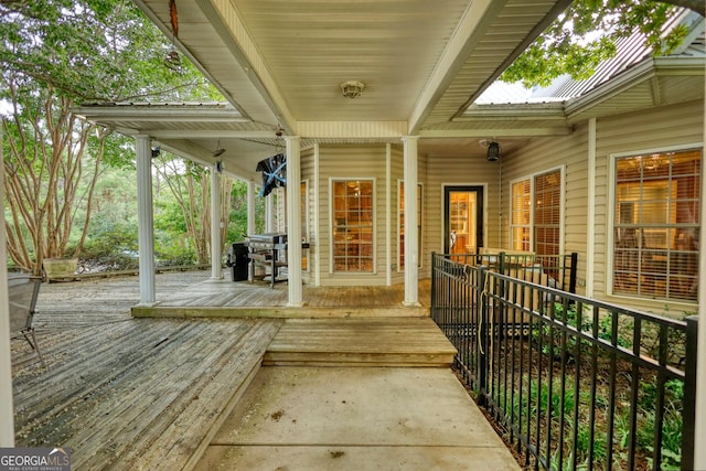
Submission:
{"label": "white front column just left of the central window, near the grill", "polygon": [[301,169],[299,167],[299,136],[287,137],[287,272],[289,302],[300,307],[301,286]]}

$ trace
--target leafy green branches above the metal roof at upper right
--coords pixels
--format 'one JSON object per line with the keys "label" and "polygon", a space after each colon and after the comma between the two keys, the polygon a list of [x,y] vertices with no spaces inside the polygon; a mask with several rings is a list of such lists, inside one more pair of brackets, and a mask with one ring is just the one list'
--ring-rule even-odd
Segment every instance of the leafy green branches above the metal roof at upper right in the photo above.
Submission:
{"label": "leafy green branches above the metal roof at upper right", "polygon": [[588,78],[598,64],[616,55],[616,41],[644,34],[656,55],[668,54],[686,34],[684,26],[666,36],[663,29],[677,8],[704,15],[703,0],[575,0],[503,73],[504,82],[547,86],[564,74]]}

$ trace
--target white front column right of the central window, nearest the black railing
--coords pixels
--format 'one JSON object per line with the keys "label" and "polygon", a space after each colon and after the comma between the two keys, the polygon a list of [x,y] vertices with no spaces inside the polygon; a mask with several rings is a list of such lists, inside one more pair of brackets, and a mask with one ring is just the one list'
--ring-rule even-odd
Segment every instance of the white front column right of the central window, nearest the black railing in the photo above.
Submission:
{"label": "white front column right of the central window, nearest the black railing", "polygon": [[417,141],[406,136],[405,143],[405,300],[404,306],[419,304],[419,240],[417,237]]}

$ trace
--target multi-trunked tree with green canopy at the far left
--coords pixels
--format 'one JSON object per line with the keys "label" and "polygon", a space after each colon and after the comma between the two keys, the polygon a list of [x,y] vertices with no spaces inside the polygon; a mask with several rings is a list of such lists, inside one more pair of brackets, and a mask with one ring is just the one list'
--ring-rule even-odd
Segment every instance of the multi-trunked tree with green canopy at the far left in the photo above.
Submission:
{"label": "multi-trunked tree with green canopy at the far left", "polygon": [[101,167],[128,164],[133,154],[74,116],[74,105],[216,93],[185,60],[175,67],[171,44],[127,0],[4,1],[0,38],[8,253],[39,274],[44,257],[65,255],[79,220],[73,255],[81,251]]}

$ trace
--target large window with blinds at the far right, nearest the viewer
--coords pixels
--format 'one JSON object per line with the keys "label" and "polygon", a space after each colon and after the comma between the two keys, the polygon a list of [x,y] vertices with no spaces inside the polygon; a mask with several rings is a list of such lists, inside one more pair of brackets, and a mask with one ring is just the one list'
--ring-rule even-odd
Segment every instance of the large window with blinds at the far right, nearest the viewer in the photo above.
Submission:
{"label": "large window with blinds at the far right, nearest the viewer", "polygon": [[614,293],[696,301],[702,151],[616,159]]}

